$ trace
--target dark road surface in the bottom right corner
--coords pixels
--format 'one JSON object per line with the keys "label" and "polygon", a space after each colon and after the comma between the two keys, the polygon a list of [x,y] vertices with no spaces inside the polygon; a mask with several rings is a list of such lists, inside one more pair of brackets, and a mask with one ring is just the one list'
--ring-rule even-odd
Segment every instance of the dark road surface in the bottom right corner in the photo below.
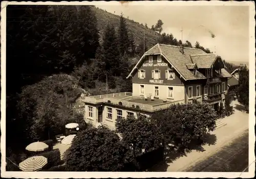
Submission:
{"label": "dark road surface in the bottom right corner", "polygon": [[191,166],[185,172],[248,172],[249,134],[246,130],[243,135],[235,139],[219,152],[205,160]]}

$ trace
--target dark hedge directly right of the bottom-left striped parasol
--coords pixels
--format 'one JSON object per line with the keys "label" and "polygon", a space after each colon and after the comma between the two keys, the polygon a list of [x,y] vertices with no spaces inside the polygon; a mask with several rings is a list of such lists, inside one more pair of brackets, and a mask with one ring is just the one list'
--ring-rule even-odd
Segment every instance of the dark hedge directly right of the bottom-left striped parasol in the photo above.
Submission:
{"label": "dark hedge directly right of the bottom-left striped parasol", "polygon": [[54,149],[49,152],[40,153],[38,156],[45,156],[47,158],[47,165],[44,169],[49,169],[51,167],[57,166],[60,163],[60,151],[59,149]]}

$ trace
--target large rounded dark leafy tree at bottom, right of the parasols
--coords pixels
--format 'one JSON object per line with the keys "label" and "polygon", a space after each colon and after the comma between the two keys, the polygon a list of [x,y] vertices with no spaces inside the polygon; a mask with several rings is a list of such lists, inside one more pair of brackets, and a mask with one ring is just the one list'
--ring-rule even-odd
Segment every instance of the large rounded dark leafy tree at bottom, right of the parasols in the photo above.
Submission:
{"label": "large rounded dark leafy tree at bottom, right of the parasols", "polygon": [[78,133],[65,162],[70,171],[125,171],[131,156],[114,131],[90,128]]}

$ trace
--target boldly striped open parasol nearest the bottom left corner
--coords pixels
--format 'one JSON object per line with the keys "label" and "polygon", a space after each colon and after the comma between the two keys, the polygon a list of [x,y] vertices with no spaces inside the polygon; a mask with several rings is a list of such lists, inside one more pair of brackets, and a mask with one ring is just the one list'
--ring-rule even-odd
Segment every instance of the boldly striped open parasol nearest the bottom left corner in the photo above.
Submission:
{"label": "boldly striped open parasol nearest the bottom left corner", "polygon": [[19,163],[19,168],[22,171],[38,171],[47,164],[47,158],[44,156],[32,156],[23,162]]}

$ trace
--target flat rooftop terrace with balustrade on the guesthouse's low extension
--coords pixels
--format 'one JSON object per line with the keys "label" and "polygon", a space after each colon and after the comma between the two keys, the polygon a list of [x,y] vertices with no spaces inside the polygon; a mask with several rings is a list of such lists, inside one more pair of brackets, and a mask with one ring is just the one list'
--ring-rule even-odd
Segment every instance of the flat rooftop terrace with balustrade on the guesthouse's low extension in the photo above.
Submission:
{"label": "flat rooftop terrace with balustrade on the guesthouse's low extension", "polygon": [[145,100],[143,96],[133,96],[132,93],[123,92],[115,94],[89,96],[85,97],[83,102],[91,104],[110,103],[153,112],[161,109],[166,109],[172,104],[184,103],[184,100],[168,100],[164,102],[161,99],[154,99],[154,101],[151,101],[150,99]]}

